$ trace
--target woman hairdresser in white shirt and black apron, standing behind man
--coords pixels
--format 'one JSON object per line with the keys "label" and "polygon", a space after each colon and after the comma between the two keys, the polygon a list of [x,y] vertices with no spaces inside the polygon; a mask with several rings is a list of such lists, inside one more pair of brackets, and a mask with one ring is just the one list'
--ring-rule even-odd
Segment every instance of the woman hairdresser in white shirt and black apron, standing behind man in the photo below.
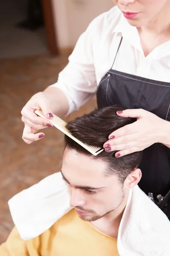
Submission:
{"label": "woman hairdresser in white shirt and black apron, standing behind man", "polygon": [[[170,218],[170,0],[113,0],[80,36],[56,84],[25,105],[23,140],[45,136],[53,113],[63,117],[97,96],[98,108],[122,105],[137,118],[103,147],[116,157],[142,151],[140,188]],[[37,117],[42,109],[49,122]]]}

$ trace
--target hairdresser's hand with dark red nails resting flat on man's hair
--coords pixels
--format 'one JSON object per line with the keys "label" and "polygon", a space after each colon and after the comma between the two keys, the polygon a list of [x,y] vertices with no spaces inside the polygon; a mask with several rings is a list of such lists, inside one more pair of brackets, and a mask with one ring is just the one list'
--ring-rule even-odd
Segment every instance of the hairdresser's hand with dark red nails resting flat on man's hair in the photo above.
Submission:
{"label": "hairdresser's hand with dark red nails resting flat on man's hair", "polygon": [[163,143],[164,127],[169,122],[143,109],[118,111],[117,115],[134,117],[137,121],[110,134],[109,140],[103,145],[105,151],[118,151],[116,157],[122,157],[142,151],[154,143]]}

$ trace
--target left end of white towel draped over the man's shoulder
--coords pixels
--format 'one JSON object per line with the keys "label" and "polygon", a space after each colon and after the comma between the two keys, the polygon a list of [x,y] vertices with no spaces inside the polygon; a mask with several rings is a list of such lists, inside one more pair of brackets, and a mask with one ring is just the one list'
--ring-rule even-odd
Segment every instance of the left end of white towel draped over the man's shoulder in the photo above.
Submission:
{"label": "left end of white towel draped over the man's shoulder", "polygon": [[70,194],[58,172],[14,195],[8,205],[21,238],[29,240],[44,233],[70,211],[69,202]]}

